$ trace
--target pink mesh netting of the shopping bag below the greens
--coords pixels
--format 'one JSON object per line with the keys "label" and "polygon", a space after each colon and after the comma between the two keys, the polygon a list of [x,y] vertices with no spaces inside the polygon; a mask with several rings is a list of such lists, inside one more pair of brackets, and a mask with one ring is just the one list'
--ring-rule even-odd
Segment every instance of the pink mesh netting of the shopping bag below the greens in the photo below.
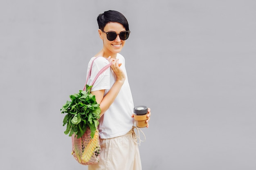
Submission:
{"label": "pink mesh netting of the shopping bag below the greens", "polygon": [[78,139],[76,135],[72,135],[72,155],[82,165],[98,163],[100,152],[101,146],[99,144],[98,128],[92,139],[90,128]]}

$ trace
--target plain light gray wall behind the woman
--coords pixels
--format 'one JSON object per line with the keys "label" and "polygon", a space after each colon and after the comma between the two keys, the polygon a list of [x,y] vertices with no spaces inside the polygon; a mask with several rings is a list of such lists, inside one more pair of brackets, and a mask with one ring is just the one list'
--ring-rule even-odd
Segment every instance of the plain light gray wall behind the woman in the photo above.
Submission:
{"label": "plain light gray wall behind the woman", "polygon": [[0,169],[87,169],[60,108],[85,83],[109,9],[130,24],[134,103],[152,110],[143,169],[255,170],[254,0],[2,0]]}

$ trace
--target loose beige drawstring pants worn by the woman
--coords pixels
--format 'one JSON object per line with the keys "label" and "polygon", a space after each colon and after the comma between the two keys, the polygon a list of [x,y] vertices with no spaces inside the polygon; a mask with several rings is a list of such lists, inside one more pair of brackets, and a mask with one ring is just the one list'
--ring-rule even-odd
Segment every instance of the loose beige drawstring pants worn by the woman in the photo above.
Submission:
{"label": "loose beige drawstring pants worn by the woman", "polygon": [[88,170],[141,170],[139,148],[134,133],[132,129],[123,136],[100,139],[99,163],[88,165]]}

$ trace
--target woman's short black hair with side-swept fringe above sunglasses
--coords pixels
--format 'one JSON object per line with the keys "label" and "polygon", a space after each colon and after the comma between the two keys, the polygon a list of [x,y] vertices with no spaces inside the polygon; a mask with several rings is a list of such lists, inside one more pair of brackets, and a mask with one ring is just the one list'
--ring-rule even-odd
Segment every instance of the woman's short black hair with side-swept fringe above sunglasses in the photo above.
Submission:
{"label": "woman's short black hair with side-swept fringe above sunglasses", "polygon": [[99,29],[101,30],[105,28],[108,22],[119,22],[124,26],[126,31],[129,31],[128,21],[126,20],[125,16],[118,11],[109,10],[99,14],[99,16],[97,17],[97,22],[99,25]]}

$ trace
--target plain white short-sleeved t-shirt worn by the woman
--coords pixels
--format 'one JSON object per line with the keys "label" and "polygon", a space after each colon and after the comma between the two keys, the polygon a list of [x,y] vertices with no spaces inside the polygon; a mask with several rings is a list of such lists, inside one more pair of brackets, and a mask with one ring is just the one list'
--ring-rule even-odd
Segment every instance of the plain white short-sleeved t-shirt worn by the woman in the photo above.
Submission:
{"label": "plain white short-sleeved t-shirt worn by the woman", "polygon": [[[95,57],[92,57],[88,64],[88,71],[90,69],[92,60]],[[124,71],[126,76],[125,82],[121,87],[115,101],[111,104],[111,106],[106,110],[106,112],[99,119],[99,136],[101,139],[109,139],[112,137],[118,137],[121,135],[125,135],[129,132],[134,125],[134,119],[131,117],[133,113],[133,100],[132,93],[130,91],[130,86],[128,83],[126,68],[125,68],[125,59],[124,57],[117,53],[117,59],[119,59],[119,63],[122,63],[120,68]],[[108,65],[109,62],[105,57],[98,57],[94,60],[92,65],[92,71],[90,79],[88,80],[88,85],[92,84],[94,77],[99,73],[101,68]],[[116,81],[116,75],[112,71],[111,68],[108,68],[104,71],[96,80],[94,85],[92,86],[91,91],[98,91],[105,89],[104,96],[108,93],[112,85]]]}

